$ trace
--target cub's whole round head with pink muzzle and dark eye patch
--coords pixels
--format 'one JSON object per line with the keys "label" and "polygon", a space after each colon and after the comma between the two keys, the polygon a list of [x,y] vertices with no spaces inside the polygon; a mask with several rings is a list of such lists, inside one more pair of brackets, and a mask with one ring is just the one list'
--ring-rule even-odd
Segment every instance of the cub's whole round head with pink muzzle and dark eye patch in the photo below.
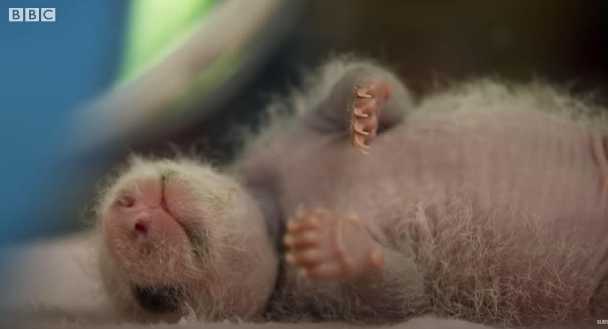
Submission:
{"label": "cub's whole round head with pink muzzle and dark eye patch", "polygon": [[277,255],[260,209],[202,163],[133,157],[97,216],[103,283],[127,314],[246,319],[274,287]]}

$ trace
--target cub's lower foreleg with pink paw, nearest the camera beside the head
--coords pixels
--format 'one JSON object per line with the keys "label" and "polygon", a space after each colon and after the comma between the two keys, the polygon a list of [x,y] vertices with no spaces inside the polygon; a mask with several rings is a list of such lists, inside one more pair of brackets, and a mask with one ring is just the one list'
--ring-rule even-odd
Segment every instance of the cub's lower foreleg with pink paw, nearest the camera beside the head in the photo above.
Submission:
{"label": "cub's lower foreleg with pink paw, nearest the camera beside the head", "polygon": [[287,231],[286,260],[304,278],[297,291],[340,308],[322,317],[386,322],[424,311],[428,299],[413,253],[383,245],[356,217],[299,209]]}

